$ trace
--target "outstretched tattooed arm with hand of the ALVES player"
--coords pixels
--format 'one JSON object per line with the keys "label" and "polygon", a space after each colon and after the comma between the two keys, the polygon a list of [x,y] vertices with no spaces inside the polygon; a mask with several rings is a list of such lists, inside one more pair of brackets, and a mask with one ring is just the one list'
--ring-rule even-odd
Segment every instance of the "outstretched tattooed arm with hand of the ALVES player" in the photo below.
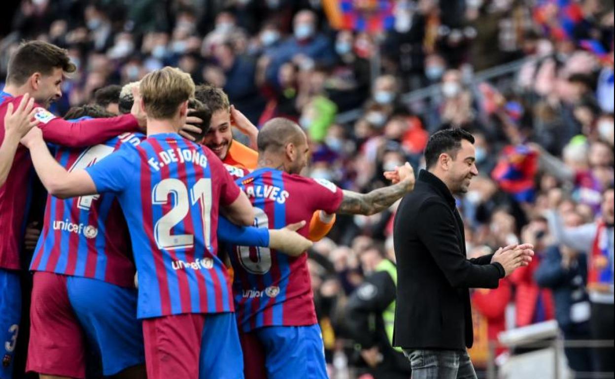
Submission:
{"label": "outstretched tattooed arm with hand of the ALVES player", "polygon": [[415,173],[410,163],[398,167],[397,177],[392,186],[379,188],[368,193],[344,190],[344,197],[336,213],[376,214],[389,208],[395,201],[415,187]]}

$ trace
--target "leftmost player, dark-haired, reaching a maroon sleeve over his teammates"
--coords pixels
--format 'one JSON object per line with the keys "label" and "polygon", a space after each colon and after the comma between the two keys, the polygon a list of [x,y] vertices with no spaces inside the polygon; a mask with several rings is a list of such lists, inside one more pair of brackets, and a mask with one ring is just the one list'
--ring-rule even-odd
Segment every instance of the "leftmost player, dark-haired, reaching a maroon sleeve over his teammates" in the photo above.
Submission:
{"label": "leftmost player, dark-haired, reaching a maroon sleeve over his teammates", "polygon": [[[62,96],[60,86],[66,73],[74,72],[65,49],[43,41],[21,44],[9,60],[6,85],[0,93],[0,122],[10,107],[17,107],[22,96],[34,98],[34,120],[50,143],[70,147],[103,143],[125,131],[137,131],[139,121],[133,115],[111,119],[85,120],[71,123],[55,117],[45,108]],[[145,119],[140,122],[145,123]],[[5,128],[0,128],[0,142],[4,143]],[[0,340],[9,357],[0,367],[0,378],[10,378],[10,363],[15,349],[21,312],[21,286],[16,270],[20,270],[20,244],[25,229],[25,215],[30,204],[30,173],[32,163],[28,150],[18,146],[7,181],[0,187]]]}

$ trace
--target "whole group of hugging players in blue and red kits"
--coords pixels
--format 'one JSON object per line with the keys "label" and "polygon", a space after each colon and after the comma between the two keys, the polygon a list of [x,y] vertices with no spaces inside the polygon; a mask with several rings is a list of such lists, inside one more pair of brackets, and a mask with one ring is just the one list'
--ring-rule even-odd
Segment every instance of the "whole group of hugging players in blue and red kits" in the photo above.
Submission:
{"label": "whole group of hugging players in blue and red kits", "polygon": [[65,120],[46,107],[74,70],[66,50],[25,42],[0,94],[0,379],[12,378],[33,171],[49,196],[28,372],[84,378],[92,349],[117,378],[327,378],[305,251],[335,213],[378,213],[411,191],[410,165],[370,193],[303,177],[295,122],[257,130],[219,88],[170,67],[122,93],[127,114],[82,106]]}

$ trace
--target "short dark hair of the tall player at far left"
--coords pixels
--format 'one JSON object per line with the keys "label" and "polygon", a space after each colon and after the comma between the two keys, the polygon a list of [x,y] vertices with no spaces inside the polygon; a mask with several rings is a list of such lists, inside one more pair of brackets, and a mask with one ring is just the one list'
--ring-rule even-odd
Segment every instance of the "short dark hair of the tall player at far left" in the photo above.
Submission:
{"label": "short dark hair of the tall player at far left", "polygon": [[66,49],[44,41],[22,42],[10,58],[6,81],[22,85],[34,72],[51,75],[54,68],[61,68],[64,72],[76,70]]}

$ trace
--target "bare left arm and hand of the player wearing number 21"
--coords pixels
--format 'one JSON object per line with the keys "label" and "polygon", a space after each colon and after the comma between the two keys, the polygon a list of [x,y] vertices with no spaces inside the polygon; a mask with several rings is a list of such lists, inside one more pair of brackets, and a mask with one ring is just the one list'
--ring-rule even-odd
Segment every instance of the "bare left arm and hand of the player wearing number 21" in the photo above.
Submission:
{"label": "bare left arm and hand of the player wearing number 21", "polygon": [[30,149],[34,169],[50,195],[68,198],[93,195],[97,192],[92,178],[85,170],[75,170],[69,173],[55,161],[42,139],[42,132],[39,128],[32,128],[22,138],[22,144]]}

